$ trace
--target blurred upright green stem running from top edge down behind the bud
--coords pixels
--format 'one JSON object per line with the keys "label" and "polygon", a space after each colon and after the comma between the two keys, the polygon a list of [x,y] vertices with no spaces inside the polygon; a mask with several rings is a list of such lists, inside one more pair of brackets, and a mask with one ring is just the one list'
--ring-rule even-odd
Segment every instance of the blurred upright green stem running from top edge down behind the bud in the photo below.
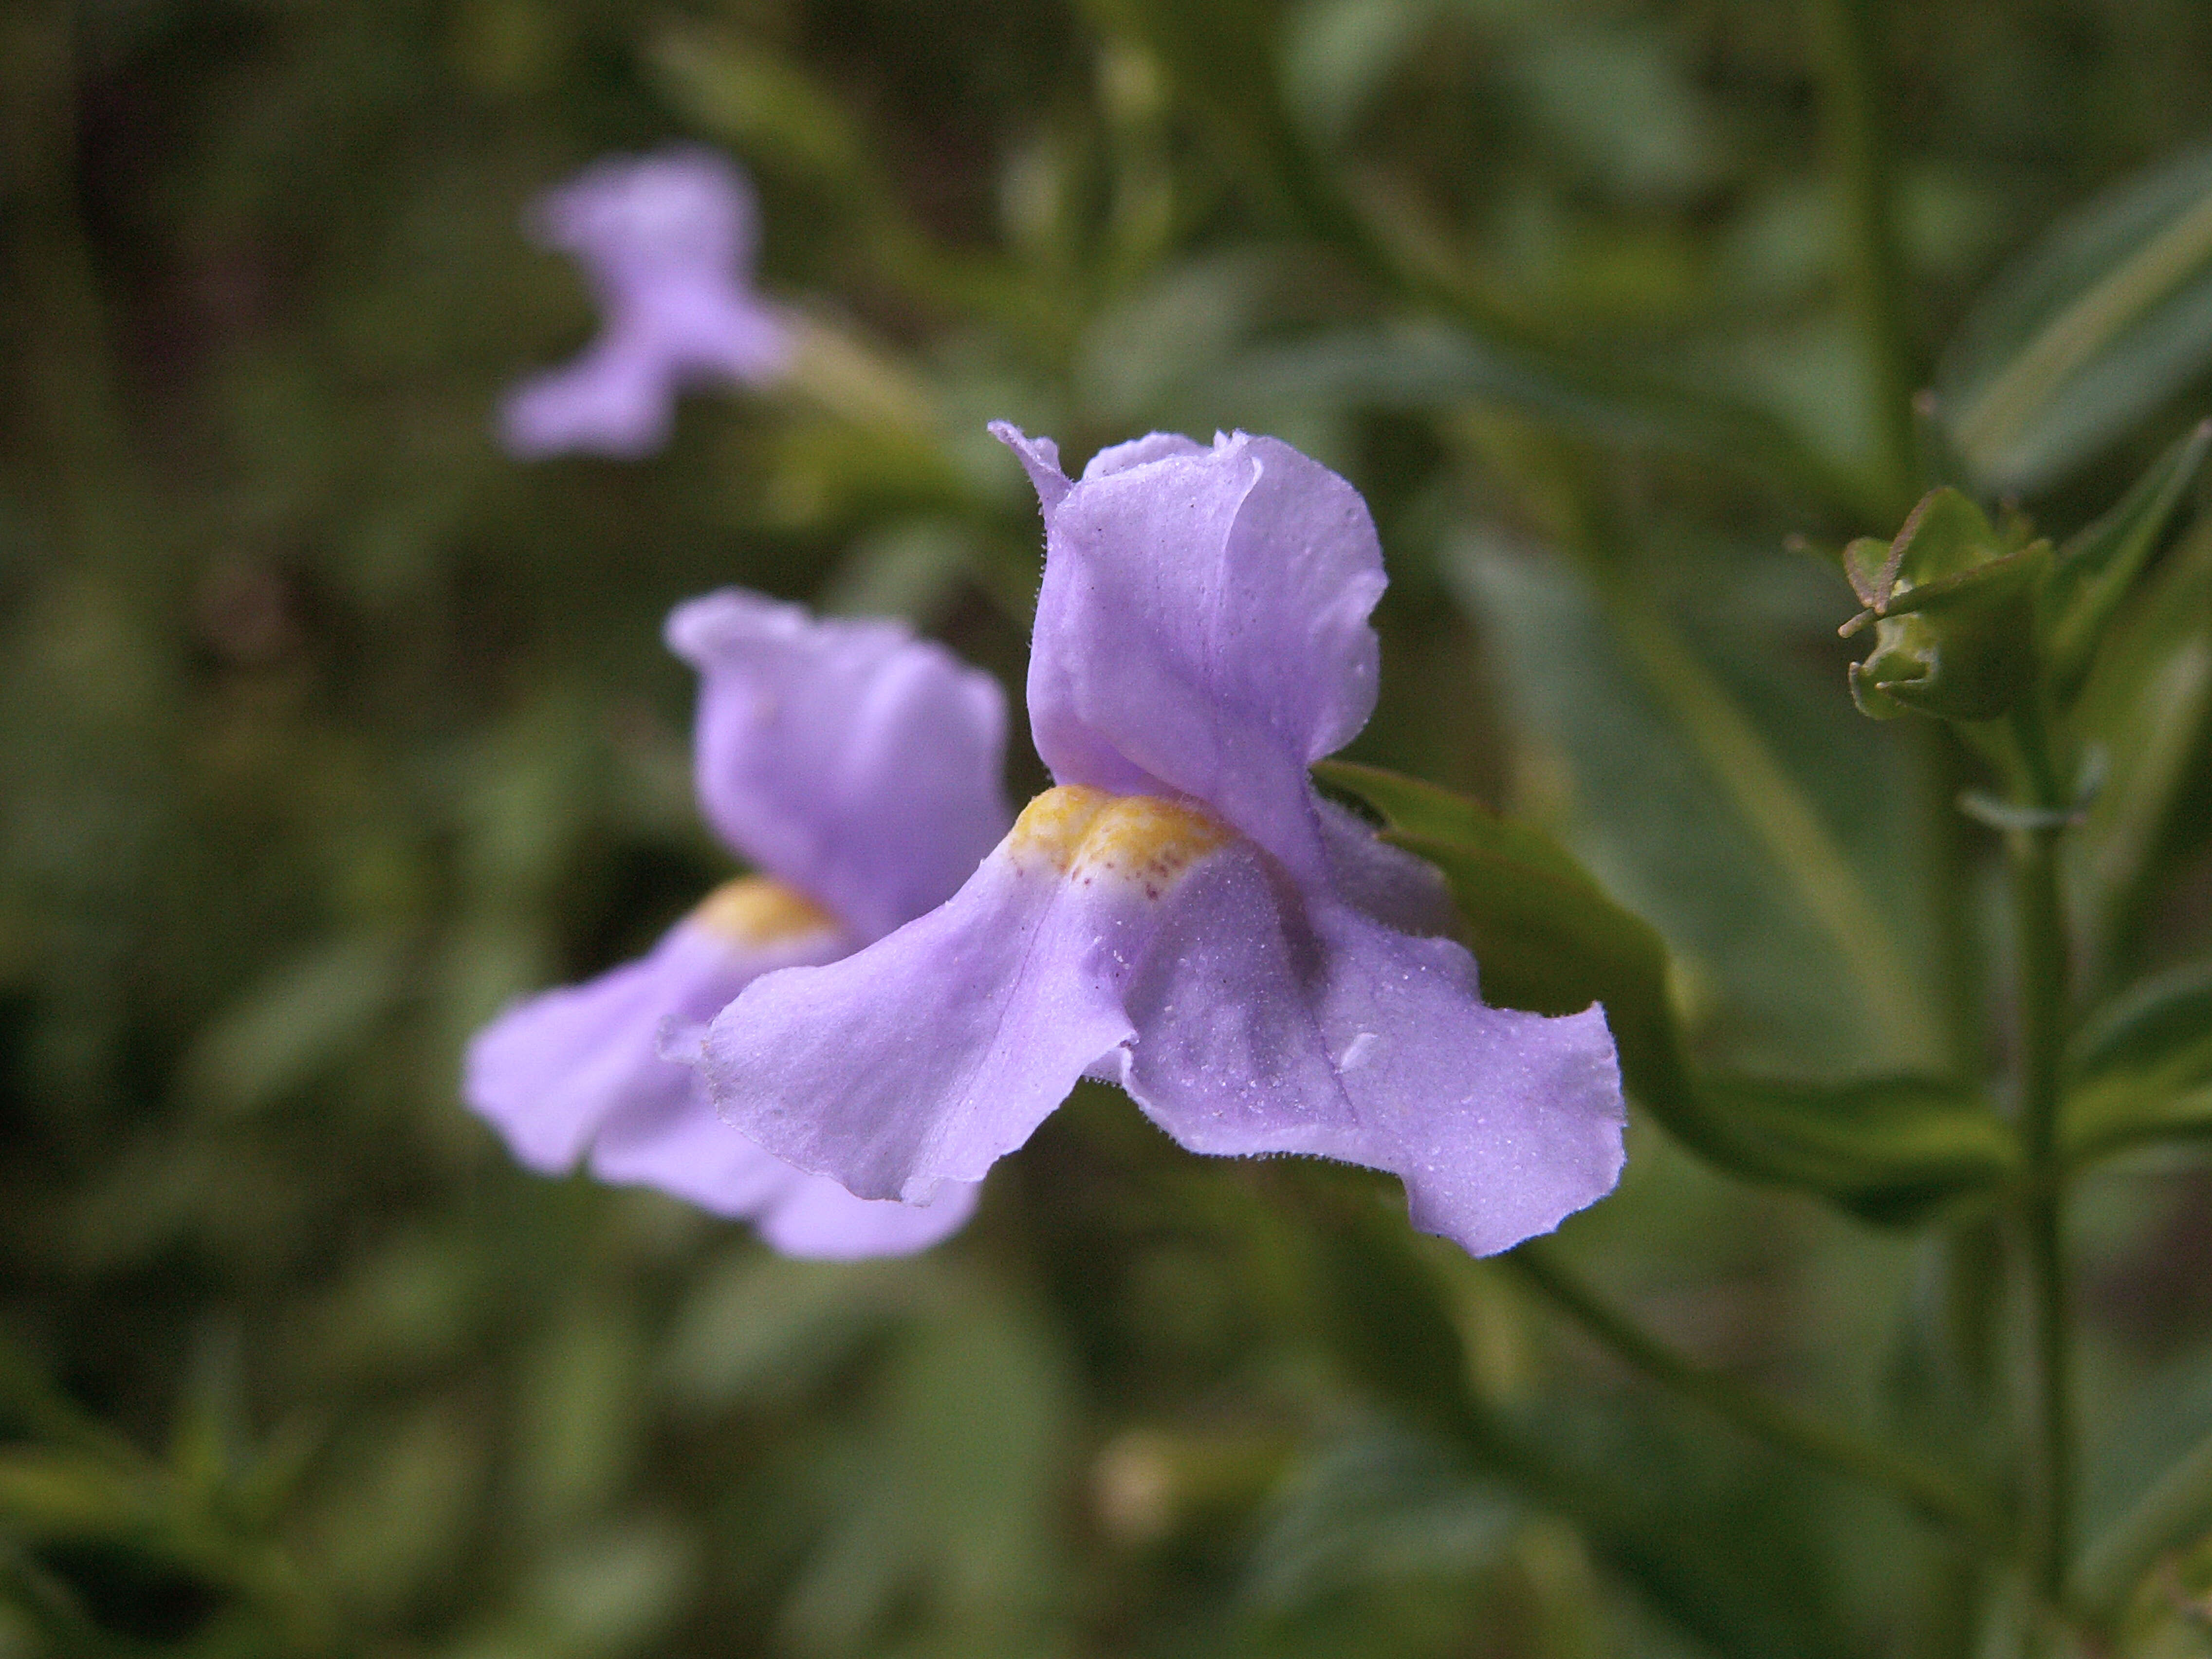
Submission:
{"label": "blurred upright green stem running from top edge down behind the bud", "polygon": [[1814,0],[1820,117],[1840,215],[1843,283],[1867,361],[1882,491],[1898,511],[1920,493],[1913,462],[1913,369],[1905,327],[1905,257],[1876,86],[1878,0]]}

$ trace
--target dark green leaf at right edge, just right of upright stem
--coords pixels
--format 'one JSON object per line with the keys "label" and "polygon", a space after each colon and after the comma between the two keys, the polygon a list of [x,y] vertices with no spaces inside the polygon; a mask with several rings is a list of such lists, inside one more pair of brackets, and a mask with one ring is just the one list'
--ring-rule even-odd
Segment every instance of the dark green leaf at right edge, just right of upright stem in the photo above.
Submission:
{"label": "dark green leaf at right edge, just right of upright stem", "polygon": [[2212,960],[2119,995],[2068,1055],[2066,1144],[2077,1159],[2212,1135]]}

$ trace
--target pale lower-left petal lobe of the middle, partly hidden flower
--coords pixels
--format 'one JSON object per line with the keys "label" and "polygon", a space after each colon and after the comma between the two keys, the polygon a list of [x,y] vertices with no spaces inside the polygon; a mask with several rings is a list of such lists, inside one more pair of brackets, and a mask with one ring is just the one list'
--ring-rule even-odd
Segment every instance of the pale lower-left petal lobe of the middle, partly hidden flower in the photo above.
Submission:
{"label": "pale lower-left petal lobe of the middle, partly hidden flower", "polygon": [[686,918],[639,960],[524,998],[478,1031],[462,1095],[518,1161],[557,1175],[608,1121],[690,1097],[690,1073],[659,1055],[664,1024],[708,1020],[761,971],[843,949],[836,933],[745,949]]}

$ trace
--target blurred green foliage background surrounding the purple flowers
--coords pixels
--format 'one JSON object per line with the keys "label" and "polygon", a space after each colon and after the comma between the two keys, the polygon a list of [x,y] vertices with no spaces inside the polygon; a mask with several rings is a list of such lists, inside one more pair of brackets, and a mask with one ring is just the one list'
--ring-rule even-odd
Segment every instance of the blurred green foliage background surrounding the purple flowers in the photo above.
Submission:
{"label": "blurred green foliage background surrounding the purple flowers", "polygon": [[[1823,557],[1938,482],[2095,553],[2079,1584],[2205,1650],[2199,0],[22,0],[0,100],[0,1659],[2000,1650],[2004,1573],[1814,1444],[1980,1493],[2024,1409],[1989,768],[1851,712]],[[677,137],[759,179],[792,380],[504,458],[593,327],[524,204]],[[458,1106],[491,1011],[723,874],[672,602],[1020,684],[987,418],[1367,493],[1356,757],[1517,814],[1429,825],[1500,995],[1593,993],[1566,927],[1637,1009],[1650,1119],[1555,1254],[1086,1086],[956,1243],[787,1263]]]}

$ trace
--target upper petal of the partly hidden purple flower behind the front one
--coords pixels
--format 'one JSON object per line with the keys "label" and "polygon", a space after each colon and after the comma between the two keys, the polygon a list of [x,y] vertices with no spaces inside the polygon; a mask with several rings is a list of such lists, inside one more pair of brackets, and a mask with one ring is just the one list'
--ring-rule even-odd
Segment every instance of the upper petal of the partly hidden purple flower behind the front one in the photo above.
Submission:
{"label": "upper petal of the partly hidden purple flower behind the front one", "polygon": [[677,606],[701,677],[699,805],[860,938],[942,902],[1006,832],[998,681],[896,622],[816,622],[728,588]]}

